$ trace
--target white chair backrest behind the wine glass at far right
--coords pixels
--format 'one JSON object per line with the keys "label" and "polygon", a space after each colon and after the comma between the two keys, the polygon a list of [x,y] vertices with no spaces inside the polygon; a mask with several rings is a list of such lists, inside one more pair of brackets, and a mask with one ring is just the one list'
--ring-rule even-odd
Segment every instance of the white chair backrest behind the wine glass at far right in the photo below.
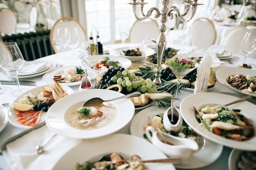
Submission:
{"label": "white chair backrest behind the wine glass at far right", "polygon": [[[241,24],[233,28],[224,37],[222,45],[225,46],[225,50],[231,54],[245,55],[240,47],[240,43],[247,31],[256,31],[256,24]],[[255,56],[254,56],[255,57]]]}

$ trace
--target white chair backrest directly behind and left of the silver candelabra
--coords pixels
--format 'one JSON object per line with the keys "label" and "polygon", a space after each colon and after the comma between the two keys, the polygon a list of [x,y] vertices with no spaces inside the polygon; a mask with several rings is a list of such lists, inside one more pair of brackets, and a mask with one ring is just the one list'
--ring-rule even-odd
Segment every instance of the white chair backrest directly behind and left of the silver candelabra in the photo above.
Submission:
{"label": "white chair backrest directly behind and left of the silver candelabra", "polygon": [[147,20],[137,20],[132,25],[130,30],[130,42],[131,43],[138,43],[144,39],[154,39],[156,40],[159,36],[159,26],[157,22],[151,18]]}

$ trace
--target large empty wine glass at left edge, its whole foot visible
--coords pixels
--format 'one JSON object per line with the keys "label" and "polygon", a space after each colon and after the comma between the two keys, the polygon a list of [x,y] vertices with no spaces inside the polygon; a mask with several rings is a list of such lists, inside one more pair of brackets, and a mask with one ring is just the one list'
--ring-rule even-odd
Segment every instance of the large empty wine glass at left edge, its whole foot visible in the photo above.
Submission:
{"label": "large empty wine glass at left edge, its whole foot visible", "polygon": [[8,74],[12,74],[17,82],[18,89],[11,92],[13,96],[20,96],[26,92],[27,88],[20,88],[18,73],[24,66],[24,59],[20,52],[20,48],[14,42],[0,44],[0,54],[2,57],[2,69]]}

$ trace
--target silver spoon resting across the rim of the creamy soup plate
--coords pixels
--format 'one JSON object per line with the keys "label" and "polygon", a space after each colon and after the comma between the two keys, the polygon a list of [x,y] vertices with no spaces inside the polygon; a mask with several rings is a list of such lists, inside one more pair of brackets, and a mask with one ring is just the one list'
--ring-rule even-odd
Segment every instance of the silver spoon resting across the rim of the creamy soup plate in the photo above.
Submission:
{"label": "silver spoon resting across the rim of the creamy soup plate", "polygon": [[96,106],[96,105],[101,105],[101,103],[103,103],[103,102],[109,102],[109,101],[112,101],[112,100],[129,98],[129,97],[138,97],[138,96],[141,96],[140,92],[133,92],[131,94],[127,94],[125,96],[121,96],[121,97],[118,97],[118,98],[113,98],[113,99],[110,99],[110,100],[102,100],[101,98],[98,98],[98,97],[91,98],[90,100],[87,100],[83,104],[83,107],[86,107],[86,106]]}

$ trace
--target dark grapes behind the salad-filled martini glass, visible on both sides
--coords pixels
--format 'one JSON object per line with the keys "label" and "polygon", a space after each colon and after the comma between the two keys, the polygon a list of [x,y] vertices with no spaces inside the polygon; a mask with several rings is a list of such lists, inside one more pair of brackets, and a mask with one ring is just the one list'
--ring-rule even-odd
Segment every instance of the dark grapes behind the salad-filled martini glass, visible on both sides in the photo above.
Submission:
{"label": "dark grapes behind the salad-filled martini glass, visible on both sides", "polygon": [[[173,80],[176,78],[175,74],[173,74],[173,72],[171,71],[170,68],[165,68],[162,69],[162,72],[161,72],[161,78],[164,80],[164,81],[170,81],[170,80]],[[189,80],[190,83],[194,82],[195,79],[196,79],[196,74],[197,74],[197,70],[194,69],[192,72],[190,72],[189,74],[187,74],[184,79],[186,80]]]}

